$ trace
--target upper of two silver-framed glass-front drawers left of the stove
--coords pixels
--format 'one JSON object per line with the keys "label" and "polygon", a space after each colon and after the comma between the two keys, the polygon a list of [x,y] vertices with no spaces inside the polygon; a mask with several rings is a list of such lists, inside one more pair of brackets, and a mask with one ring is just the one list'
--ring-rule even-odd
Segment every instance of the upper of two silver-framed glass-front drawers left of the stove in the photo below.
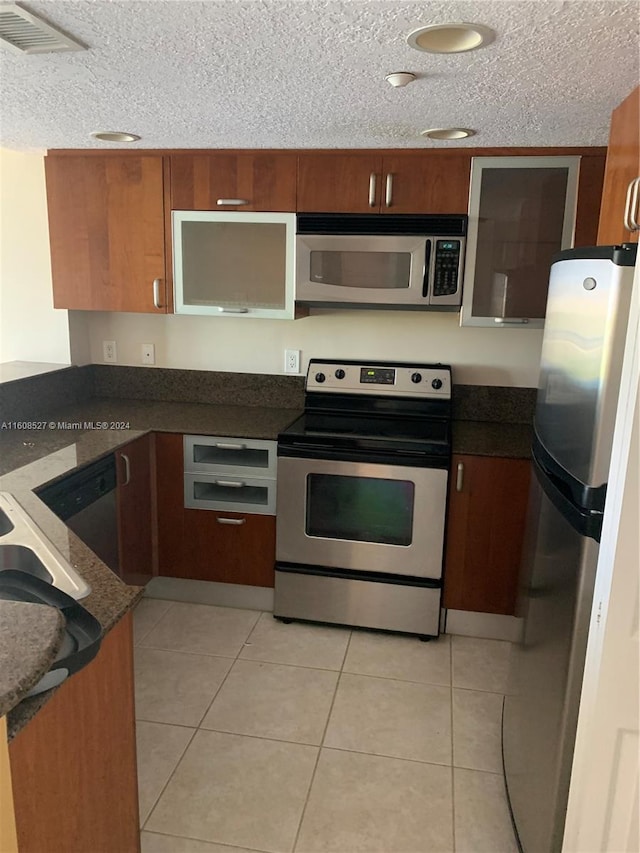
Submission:
{"label": "upper of two silver-framed glass-front drawers left of the stove", "polygon": [[185,473],[276,476],[276,442],[229,436],[185,435]]}

